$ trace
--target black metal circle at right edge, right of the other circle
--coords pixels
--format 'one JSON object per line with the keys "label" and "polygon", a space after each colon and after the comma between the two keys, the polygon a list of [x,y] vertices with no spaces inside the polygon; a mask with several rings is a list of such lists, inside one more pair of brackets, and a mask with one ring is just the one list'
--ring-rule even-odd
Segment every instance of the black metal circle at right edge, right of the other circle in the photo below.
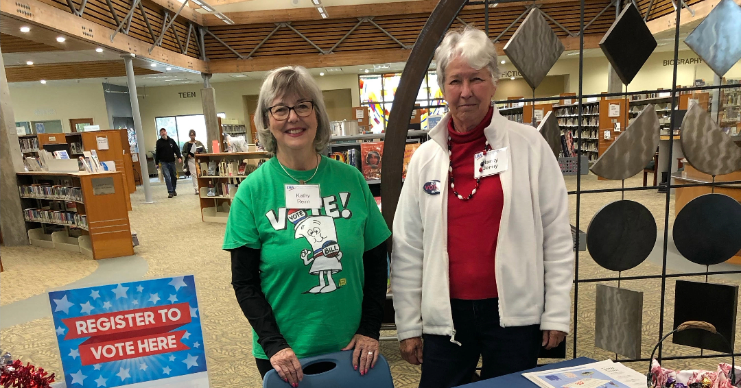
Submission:
{"label": "black metal circle at right edge, right of the other circle", "polygon": [[700,195],[677,214],[673,235],[687,260],[720,264],[741,250],[741,204],[728,195]]}

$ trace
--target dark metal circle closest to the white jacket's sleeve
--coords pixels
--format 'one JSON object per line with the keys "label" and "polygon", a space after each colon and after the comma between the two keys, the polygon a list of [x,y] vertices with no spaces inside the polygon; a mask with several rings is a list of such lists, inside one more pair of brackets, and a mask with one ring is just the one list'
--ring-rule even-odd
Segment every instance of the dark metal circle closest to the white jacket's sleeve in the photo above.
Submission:
{"label": "dark metal circle closest to the white jacket's sleeve", "polygon": [[616,201],[602,207],[587,229],[587,249],[594,261],[613,271],[641,264],[654,250],[656,220],[635,201]]}

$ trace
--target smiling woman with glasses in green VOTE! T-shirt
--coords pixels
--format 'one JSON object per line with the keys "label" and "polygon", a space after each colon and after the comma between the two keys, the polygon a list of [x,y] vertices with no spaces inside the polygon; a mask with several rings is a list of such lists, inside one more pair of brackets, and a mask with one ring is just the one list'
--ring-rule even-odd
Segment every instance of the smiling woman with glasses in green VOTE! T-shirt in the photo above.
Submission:
{"label": "smiling woman with glasses in green VOTE! T-shirt", "polygon": [[257,104],[275,157],[239,185],[224,236],[257,367],[297,387],[298,358],[354,349],[364,375],[378,359],[391,232],[359,170],[321,155],[329,118],[304,67],[268,73]]}

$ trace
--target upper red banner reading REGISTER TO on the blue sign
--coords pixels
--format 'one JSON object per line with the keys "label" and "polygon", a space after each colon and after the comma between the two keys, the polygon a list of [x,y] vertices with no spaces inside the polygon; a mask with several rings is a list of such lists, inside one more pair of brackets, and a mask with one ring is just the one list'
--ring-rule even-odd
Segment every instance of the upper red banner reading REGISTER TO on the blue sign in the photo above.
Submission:
{"label": "upper red banner reading REGISTER TO on the blue sign", "polygon": [[[187,303],[145,307],[75,318],[64,318],[69,329],[65,340],[104,337],[97,341],[162,333],[190,323],[190,305]],[[136,333],[131,333],[136,332]],[[128,334],[123,334],[128,333]]]}

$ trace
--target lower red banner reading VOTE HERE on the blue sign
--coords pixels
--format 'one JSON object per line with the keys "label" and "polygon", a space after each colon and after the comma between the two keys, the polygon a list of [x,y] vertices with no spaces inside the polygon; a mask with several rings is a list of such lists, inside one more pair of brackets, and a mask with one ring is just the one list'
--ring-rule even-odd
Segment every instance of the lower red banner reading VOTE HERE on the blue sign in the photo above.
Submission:
{"label": "lower red banner reading VOTE HERE on the blue sign", "polygon": [[180,341],[183,335],[185,330],[105,342],[85,341],[79,346],[80,361],[82,365],[93,365],[190,349]]}

